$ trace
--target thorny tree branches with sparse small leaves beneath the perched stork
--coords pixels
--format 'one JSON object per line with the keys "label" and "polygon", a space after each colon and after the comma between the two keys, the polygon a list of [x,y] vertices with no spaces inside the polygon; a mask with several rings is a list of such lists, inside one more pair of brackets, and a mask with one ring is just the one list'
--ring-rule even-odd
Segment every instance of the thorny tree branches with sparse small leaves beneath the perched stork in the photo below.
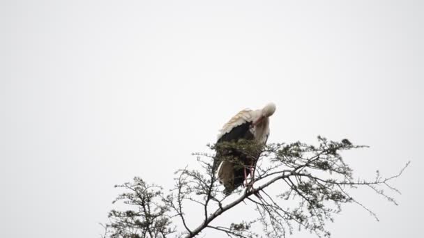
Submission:
{"label": "thorny tree branches with sparse small leaves beneath the perched stork", "polygon": [[[124,211],[109,212],[103,237],[195,237],[205,230],[217,230],[227,237],[286,237],[294,228],[308,230],[318,237],[330,237],[327,221],[341,212],[344,203],[356,203],[374,214],[368,207],[351,196],[351,189],[369,187],[382,198],[397,205],[386,193],[399,193],[389,182],[399,177],[377,175],[373,180],[358,180],[352,169],[342,159],[340,152],[363,145],[353,145],[347,139],[328,141],[318,136],[318,145],[272,143],[265,146],[251,141],[210,145],[211,150],[239,150],[245,154],[261,153],[255,170],[232,195],[226,195],[213,171],[216,169],[213,154],[196,153],[201,169],[183,168],[176,171],[174,189],[164,194],[161,187],[146,184],[135,177],[117,187],[127,190],[116,201],[129,205]],[[237,164],[237,158],[220,158]],[[218,225],[218,216],[245,203],[257,212],[252,221],[235,221]],[[188,224],[190,214],[186,208],[197,206],[202,211],[202,221],[197,226]],[[197,214],[198,215],[198,212]],[[172,221],[181,222],[177,231]]]}

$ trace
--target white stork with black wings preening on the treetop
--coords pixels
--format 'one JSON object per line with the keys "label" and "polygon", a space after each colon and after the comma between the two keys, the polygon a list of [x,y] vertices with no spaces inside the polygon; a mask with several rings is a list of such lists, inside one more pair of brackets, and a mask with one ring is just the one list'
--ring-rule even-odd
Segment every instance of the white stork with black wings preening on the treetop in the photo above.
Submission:
{"label": "white stork with black wings preening on the treetop", "polygon": [[218,140],[215,144],[215,159],[212,171],[218,170],[218,180],[224,185],[224,193],[231,194],[241,186],[248,175],[253,177],[256,161],[260,150],[251,154],[241,152],[235,148],[220,146],[224,143],[237,143],[241,141],[252,141],[256,145],[265,145],[269,136],[269,117],[275,112],[275,104],[268,103],[264,108],[258,110],[244,109],[233,116],[220,129]]}

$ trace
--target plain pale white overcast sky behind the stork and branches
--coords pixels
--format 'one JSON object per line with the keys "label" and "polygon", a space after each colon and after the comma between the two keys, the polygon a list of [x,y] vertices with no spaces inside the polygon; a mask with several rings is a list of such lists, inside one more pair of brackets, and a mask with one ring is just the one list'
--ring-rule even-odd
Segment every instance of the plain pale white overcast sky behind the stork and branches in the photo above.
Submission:
{"label": "plain pale white overcast sky behind the stork and branches", "polygon": [[381,221],[347,205],[333,237],[421,237],[423,12],[422,1],[1,1],[0,237],[97,237],[114,184],[169,188],[190,152],[266,102],[270,142],[370,145],[345,154],[361,177],[412,161],[393,183],[400,206],[364,189]]}

